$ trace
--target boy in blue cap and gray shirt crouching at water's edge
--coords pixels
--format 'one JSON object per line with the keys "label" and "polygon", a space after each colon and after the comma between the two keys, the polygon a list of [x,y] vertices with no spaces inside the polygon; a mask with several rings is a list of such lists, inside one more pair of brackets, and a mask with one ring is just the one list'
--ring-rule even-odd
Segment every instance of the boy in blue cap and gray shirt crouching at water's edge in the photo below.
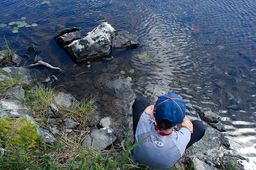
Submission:
{"label": "boy in blue cap and gray shirt crouching at water's edge", "polygon": [[[146,97],[136,98],[132,105],[135,142],[148,136],[134,148],[137,162],[151,169],[169,169],[185,149],[204,136],[204,125],[200,121],[191,123],[185,117],[185,107],[175,93],[158,97],[150,106]],[[176,125],[178,131],[174,130]]]}

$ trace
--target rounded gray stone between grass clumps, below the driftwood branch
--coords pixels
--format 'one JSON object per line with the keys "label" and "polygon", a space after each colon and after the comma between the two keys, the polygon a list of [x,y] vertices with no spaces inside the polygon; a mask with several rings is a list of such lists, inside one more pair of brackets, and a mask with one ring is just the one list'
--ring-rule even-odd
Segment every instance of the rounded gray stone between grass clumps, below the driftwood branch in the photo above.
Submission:
{"label": "rounded gray stone between grass clumps, below the driftwood branch", "polygon": [[66,109],[71,108],[73,103],[77,102],[72,94],[63,92],[54,95],[54,101],[59,107],[64,107]]}

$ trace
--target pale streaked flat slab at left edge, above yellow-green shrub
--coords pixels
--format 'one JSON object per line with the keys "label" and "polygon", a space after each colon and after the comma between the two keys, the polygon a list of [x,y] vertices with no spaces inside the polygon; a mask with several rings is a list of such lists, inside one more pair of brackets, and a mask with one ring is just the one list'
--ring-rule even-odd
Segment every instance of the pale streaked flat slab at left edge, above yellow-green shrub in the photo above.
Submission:
{"label": "pale streaked flat slab at left edge, above yellow-green shrub", "polygon": [[23,105],[20,101],[1,100],[0,101],[0,117],[23,117],[31,115],[30,109]]}

